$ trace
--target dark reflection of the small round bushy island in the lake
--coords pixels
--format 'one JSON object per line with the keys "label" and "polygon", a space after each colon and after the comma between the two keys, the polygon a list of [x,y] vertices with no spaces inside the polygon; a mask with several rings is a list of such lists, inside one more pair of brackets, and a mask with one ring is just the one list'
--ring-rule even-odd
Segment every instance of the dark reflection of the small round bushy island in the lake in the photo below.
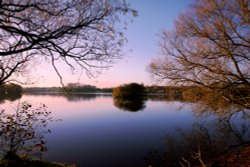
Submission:
{"label": "dark reflection of the small round bushy island in the lake", "polygon": [[143,110],[145,105],[145,100],[143,99],[124,99],[124,98],[113,98],[114,105],[124,111],[140,111]]}

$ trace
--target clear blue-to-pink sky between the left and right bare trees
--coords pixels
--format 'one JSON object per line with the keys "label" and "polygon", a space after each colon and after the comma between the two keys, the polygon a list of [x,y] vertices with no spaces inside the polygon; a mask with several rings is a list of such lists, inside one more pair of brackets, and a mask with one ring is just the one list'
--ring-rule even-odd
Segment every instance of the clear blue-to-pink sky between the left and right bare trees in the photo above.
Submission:
{"label": "clear blue-to-pink sky between the left and right bare trees", "polygon": [[[138,17],[133,18],[124,33],[128,40],[124,47],[124,57],[95,78],[89,78],[85,73],[79,78],[79,74],[72,75],[66,67],[60,67],[63,83],[79,82],[100,88],[131,82],[157,84],[146,68],[153,58],[160,56],[159,34],[164,29],[172,30],[174,20],[190,3],[191,0],[130,0],[131,7],[138,11]],[[33,73],[31,76],[34,84],[28,86],[61,86],[60,79],[48,64],[39,65]]]}

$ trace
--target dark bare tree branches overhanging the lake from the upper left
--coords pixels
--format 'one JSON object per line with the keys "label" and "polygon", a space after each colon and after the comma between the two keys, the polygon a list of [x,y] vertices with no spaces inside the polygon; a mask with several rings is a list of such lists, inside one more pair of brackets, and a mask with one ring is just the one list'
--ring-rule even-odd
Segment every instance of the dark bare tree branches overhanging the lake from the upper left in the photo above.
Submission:
{"label": "dark bare tree branches overhanging the lake from the upper left", "polygon": [[116,26],[132,13],[124,0],[1,0],[0,84],[25,75],[33,60],[49,61],[62,83],[57,63],[88,75],[109,67],[125,42]]}

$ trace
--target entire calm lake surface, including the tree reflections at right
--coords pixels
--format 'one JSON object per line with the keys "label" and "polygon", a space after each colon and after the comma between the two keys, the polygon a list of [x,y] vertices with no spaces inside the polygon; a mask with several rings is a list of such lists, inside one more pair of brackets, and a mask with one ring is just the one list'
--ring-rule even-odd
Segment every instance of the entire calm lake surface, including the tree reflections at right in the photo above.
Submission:
{"label": "entire calm lake surface, including the tree reflections at right", "polygon": [[[250,138],[249,111],[234,107],[216,112],[164,98],[125,104],[110,94],[23,95],[18,101],[45,104],[60,119],[48,125],[42,159],[80,167],[160,166],[190,151],[209,157]],[[1,106],[7,111],[17,103]]]}

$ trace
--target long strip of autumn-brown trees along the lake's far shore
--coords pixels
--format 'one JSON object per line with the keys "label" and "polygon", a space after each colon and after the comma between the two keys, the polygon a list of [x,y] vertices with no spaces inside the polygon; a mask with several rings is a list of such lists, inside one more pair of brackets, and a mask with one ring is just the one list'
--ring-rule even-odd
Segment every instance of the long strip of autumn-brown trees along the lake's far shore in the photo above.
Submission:
{"label": "long strip of autumn-brown trees along the lake's far shore", "polygon": [[[130,86],[129,86],[130,85]],[[4,84],[0,85],[0,102],[5,99],[14,100],[20,98],[23,93],[28,94],[44,94],[44,93],[66,93],[65,95],[69,96],[70,94],[81,94],[81,93],[115,93],[116,90],[121,92],[120,89],[125,87],[122,91],[122,96],[127,96],[126,94],[133,93],[134,97],[139,97],[137,87],[132,87],[131,85],[136,85],[136,83],[125,84],[118,86],[116,88],[98,88],[92,85],[83,85],[78,83],[70,83],[65,87],[27,87],[22,88],[18,84]],[[250,90],[245,87],[238,87],[237,91],[235,89],[224,88],[221,89],[219,85],[215,85],[213,93],[210,89],[205,89],[200,86],[144,86],[143,84],[138,84],[143,88],[143,97],[151,100],[179,100],[179,101],[189,101],[189,102],[204,102],[211,103],[216,105],[230,105],[231,103],[243,103],[250,102]],[[218,88],[219,87],[219,88]],[[119,89],[120,88],[120,89]],[[215,94],[216,88],[218,89],[217,94]],[[137,92],[137,93],[136,93]],[[225,97],[230,94],[231,98],[234,101],[229,101]],[[156,95],[159,97],[155,98]],[[70,96],[69,96],[70,97]],[[137,99],[137,98],[135,98]],[[217,106],[216,106],[217,107]]]}

